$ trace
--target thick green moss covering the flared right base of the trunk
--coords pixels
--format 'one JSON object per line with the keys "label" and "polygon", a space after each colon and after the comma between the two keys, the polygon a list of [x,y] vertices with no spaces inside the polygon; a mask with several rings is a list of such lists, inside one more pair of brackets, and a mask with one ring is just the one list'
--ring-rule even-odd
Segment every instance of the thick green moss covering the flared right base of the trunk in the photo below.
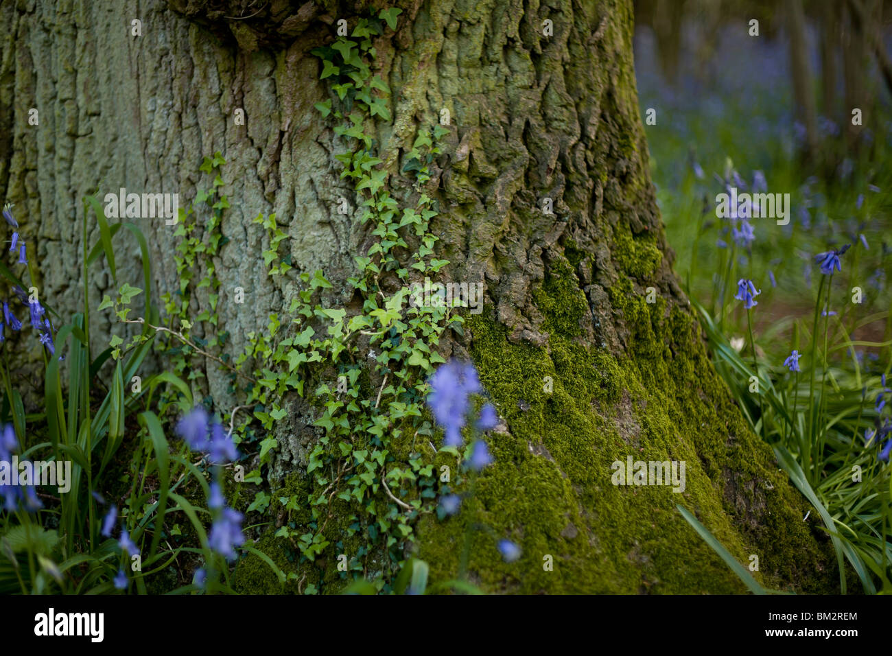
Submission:
{"label": "thick green moss covering the flared right base of the trunk", "polygon": [[[551,278],[537,298],[553,301],[562,289]],[[495,462],[462,511],[420,523],[419,555],[431,565],[432,580],[456,576],[474,523],[491,528],[475,530],[471,543],[469,571],[485,590],[744,592],[681,518],[681,503],[738,561],[746,565],[750,554],[758,555],[754,576],[764,585],[821,589],[823,578],[815,580],[814,572],[828,565],[827,552],[801,521],[805,504],[722,394],[690,315],[673,309],[664,318],[665,303],[627,301],[633,344],[641,345],[622,360],[592,353],[558,331],[548,348],[512,344],[495,321],[468,320],[483,386],[509,434],[490,436]],[[611,464],[627,455],[685,461],[685,491],[612,485]],[[501,537],[522,546],[520,561],[500,560]],[[553,571],[543,569],[549,556]]]}

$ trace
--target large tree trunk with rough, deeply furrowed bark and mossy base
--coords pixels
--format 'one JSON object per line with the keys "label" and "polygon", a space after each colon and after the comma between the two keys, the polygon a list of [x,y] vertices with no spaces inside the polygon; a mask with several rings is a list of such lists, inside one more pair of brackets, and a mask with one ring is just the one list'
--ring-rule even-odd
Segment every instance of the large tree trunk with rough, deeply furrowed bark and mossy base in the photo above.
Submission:
{"label": "large tree trunk with rough, deeply furrowed bark and mossy base", "polygon": [[[211,261],[227,353],[235,358],[250,331],[266,331],[270,311],[285,325],[301,288],[297,272],[324,270],[334,285],[325,291],[329,306],[357,311],[346,280],[356,275],[353,256],[377,239],[358,220],[364,196],[339,177],[336,122],[314,109],[335,96],[310,50],[332,43],[338,20],[352,30],[370,10],[360,2],[260,5],[21,0],[0,8],[0,148],[11,154],[0,157],[0,188],[37,240],[43,294],[63,314],[77,308],[81,197],[97,186],[101,194],[126,187],[177,192],[185,205],[196,188],[210,187],[198,167],[215,151],[227,160],[231,203],[220,226],[228,241]],[[425,186],[440,210],[435,256],[450,261],[441,280],[483,281],[485,303],[467,315],[464,335],[443,333],[440,348],[475,361],[501,419],[489,437],[495,461],[474,496],[455,517],[426,513],[414,523],[414,548],[430,563],[431,580],[457,576],[473,524],[488,529],[470,533],[468,576],[488,591],[744,591],[682,519],[681,503],[738,561],[756,555],[754,576],[765,585],[832,588],[834,565],[814,513],[803,521],[805,502],[731,402],[673,273],[648,176],[631,3],[397,6],[396,29],[375,39],[392,120],[369,121],[367,131],[375,132],[377,168],[389,173],[392,195],[409,206],[417,194],[406,154],[420,129],[450,114]],[[141,37],[131,36],[135,19]],[[31,107],[38,127],[28,124]],[[244,126],[235,123],[237,109]],[[657,110],[658,124],[664,120]],[[351,214],[337,212],[342,197]],[[288,275],[270,278],[261,263],[268,236],[252,222],[260,212],[275,212],[287,234],[282,250],[295,267]],[[175,294],[176,228],[134,221],[149,240],[156,296]],[[92,245],[98,230],[90,225]],[[120,257],[119,279],[136,284],[133,254]],[[207,267],[199,260],[193,279]],[[91,278],[92,297],[110,285],[108,275]],[[235,287],[244,288],[244,304],[233,300]],[[195,290],[190,315],[207,310],[209,298]],[[103,348],[111,326],[95,328],[94,348]],[[206,364],[206,392],[228,411],[241,398],[227,371]],[[368,366],[374,397],[381,370]],[[315,489],[307,453],[321,411],[298,400],[285,407],[292,412],[277,424],[268,468],[274,498]],[[439,444],[438,435],[430,439]],[[417,448],[423,460],[455,468],[454,457]],[[684,461],[686,489],[612,485],[612,463],[629,456]],[[377,486],[375,498],[401,512]],[[340,553],[358,558],[368,576],[383,569],[374,550],[356,556],[365,538],[348,529],[355,510],[339,512],[323,529],[331,546],[314,563],[293,564],[300,559],[275,528],[258,536],[298,575],[288,590],[341,589]],[[519,561],[500,560],[502,537],[520,545]],[[553,570],[544,567],[549,556]],[[253,556],[239,563],[235,581],[249,592],[279,589]]]}

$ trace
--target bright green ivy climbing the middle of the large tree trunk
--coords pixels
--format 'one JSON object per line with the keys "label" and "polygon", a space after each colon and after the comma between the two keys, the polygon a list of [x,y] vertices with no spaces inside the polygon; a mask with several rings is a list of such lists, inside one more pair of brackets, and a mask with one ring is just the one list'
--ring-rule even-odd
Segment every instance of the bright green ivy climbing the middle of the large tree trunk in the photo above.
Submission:
{"label": "bright green ivy climbing the middle of the large tree trunk", "polygon": [[[381,19],[392,29],[399,12],[382,12]],[[335,125],[335,134],[348,146],[335,155],[343,164],[341,177],[352,180],[361,200],[359,221],[370,223],[377,237],[366,253],[354,258],[357,275],[347,280],[359,294],[361,311],[327,306],[322,299],[331,282],[321,270],[292,271],[291,262],[279,255],[286,235],[275,215],[259,215],[254,222],[268,233],[263,253],[268,274],[294,276],[302,290],[287,309],[290,322],[271,314],[265,333],[249,334],[249,344],[236,360],[239,367],[249,360],[262,363],[255,365],[256,384],[246,403],[255,408],[253,417],[264,429],[285,415],[288,394],[306,395],[318,411],[313,425],[320,436],[308,454],[306,472],[310,512],[300,523],[279,527],[276,536],[296,547],[301,561],[310,562],[351,540],[356,560],[350,576],[378,571],[377,591],[391,589],[388,572],[397,569],[405,544],[414,540],[418,517],[435,511],[435,453],[428,444],[433,430],[423,416],[426,378],[443,361],[436,351],[443,329],[462,322],[450,308],[408,303],[413,280],[448,264],[432,259],[437,237],[430,222],[437,209],[423,190],[430,179],[428,167],[441,153],[439,139],[447,131],[437,126],[418,133],[403,170],[414,174],[416,201],[401,208],[388,187],[388,171],[381,168],[383,158],[374,151],[375,139],[367,132],[368,121],[390,120],[390,89],[369,63],[375,56],[371,37],[381,30],[381,21],[360,19],[351,37],[312,51],[322,60],[320,79],[329,80],[333,92],[316,108],[342,121]],[[276,446],[271,437],[263,440],[261,462],[268,461]],[[280,501],[289,516],[301,503],[293,495]],[[350,518],[348,526],[333,527],[335,515]],[[373,558],[381,561],[382,556],[387,563],[383,572],[371,566]],[[312,591],[318,587],[313,585]]]}

